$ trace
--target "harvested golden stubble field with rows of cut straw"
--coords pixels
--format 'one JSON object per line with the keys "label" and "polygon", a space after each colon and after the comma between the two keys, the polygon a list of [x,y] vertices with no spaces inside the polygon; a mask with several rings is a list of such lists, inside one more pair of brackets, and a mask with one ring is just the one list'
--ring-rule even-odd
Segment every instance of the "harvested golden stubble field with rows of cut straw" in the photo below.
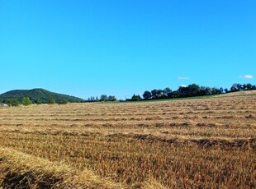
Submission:
{"label": "harvested golden stubble field with rows of cut straw", "polygon": [[256,95],[0,108],[0,187],[42,184],[255,188]]}

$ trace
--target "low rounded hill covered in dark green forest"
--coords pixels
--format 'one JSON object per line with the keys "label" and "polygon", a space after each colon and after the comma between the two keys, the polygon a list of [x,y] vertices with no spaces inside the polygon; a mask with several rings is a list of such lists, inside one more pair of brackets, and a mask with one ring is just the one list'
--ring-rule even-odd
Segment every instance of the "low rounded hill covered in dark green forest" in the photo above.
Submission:
{"label": "low rounded hill covered in dark green forest", "polygon": [[34,90],[10,90],[6,93],[0,95],[0,103],[5,103],[7,99],[17,99],[19,103],[22,102],[23,98],[30,98],[33,103],[36,104],[46,104],[49,103],[50,99],[55,99],[56,103],[63,100],[69,103],[82,103],[85,102],[84,99],[79,99],[74,96],[62,95],[54,92],[50,92],[44,89],[34,89]]}

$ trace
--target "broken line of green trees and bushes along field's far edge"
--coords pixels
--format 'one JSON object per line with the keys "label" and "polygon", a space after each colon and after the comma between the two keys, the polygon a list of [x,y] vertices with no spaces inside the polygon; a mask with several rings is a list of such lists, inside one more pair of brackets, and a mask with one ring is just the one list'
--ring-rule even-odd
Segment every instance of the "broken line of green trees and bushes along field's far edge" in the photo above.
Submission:
{"label": "broken line of green trees and bushes along field's far edge", "polygon": [[[217,88],[209,86],[200,86],[197,84],[191,84],[187,86],[179,86],[178,90],[171,90],[166,87],[164,90],[145,90],[142,97],[140,95],[132,95],[130,99],[126,101],[140,101],[140,100],[152,100],[152,99],[175,99],[175,98],[186,98],[186,97],[196,97],[205,95],[220,95],[230,92],[244,91],[244,90],[256,90],[256,85],[252,84],[233,84],[230,89],[227,88]],[[117,101],[114,95],[101,95],[98,97],[90,97],[85,102],[115,102]],[[124,101],[124,100],[119,100]],[[7,99],[5,102],[8,106],[18,106],[19,101],[17,99]],[[46,104],[68,104],[67,99],[57,99],[51,98],[46,102]],[[26,97],[22,99],[21,104],[28,106],[31,104],[41,104],[39,100],[34,101]],[[45,102],[44,102],[45,104]]]}

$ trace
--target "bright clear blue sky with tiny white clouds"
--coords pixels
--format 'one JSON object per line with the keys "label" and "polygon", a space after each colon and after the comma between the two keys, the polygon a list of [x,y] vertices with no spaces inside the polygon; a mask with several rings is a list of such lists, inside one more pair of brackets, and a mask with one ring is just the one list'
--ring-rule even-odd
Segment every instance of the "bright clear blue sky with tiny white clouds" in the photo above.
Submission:
{"label": "bright clear blue sky with tiny white clouds", "polygon": [[0,93],[255,84],[255,0],[0,0]]}

